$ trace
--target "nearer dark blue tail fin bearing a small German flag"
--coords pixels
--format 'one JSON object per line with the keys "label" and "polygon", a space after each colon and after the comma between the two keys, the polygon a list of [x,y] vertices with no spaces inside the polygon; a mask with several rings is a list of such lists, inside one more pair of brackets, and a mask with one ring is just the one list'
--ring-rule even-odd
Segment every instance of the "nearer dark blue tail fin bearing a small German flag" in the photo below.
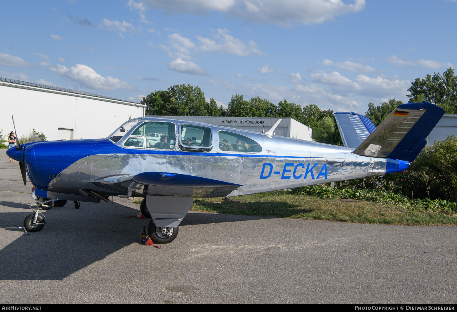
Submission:
{"label": "nearer dark blue tail fin bearing a small German flag", "polygon": [[399,105],[353,153],[413,161],[443,114],[441,107],[428,102]]}

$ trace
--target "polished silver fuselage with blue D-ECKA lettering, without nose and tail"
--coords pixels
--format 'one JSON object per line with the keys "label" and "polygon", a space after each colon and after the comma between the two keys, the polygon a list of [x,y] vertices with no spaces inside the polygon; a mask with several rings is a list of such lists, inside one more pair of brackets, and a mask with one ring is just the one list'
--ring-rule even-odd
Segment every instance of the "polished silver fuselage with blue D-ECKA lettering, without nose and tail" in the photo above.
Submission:
{"label": "polished silver fuselage with blue D-ECKA lettering, without nose and tail", "polygon": [[[176,142],[179,140],[181,124],[202,125],[152,116],[138,119],[137,125],[144,121],[172,121],[176,129]],[[351,148],[207,124],[204,126],[211,128],[215,143],[207,152],[182,151],[179,144],[175,144],[171,150],[124,147],[123,142],[137,125],[126,131],[117,143],[108,139],[94,140],[90,155],[74,161],[58,177],[50,179],[48,191],[78,194],[79,189],[93,189],[109,196],[142,197],[163,193],[194,198],[208,197],[205,192],[195,191],[192,194],[173,194],[170,191],[172,187],[160,189],[129,180],[129,177],[142,172],[167,172],[239,184],[241,186],[228,195],[237,196],[369,177],[386,172],[386,159],[359,156],[353,154]],[[220,130],[249,137],[260,144],[262,151],[223,151],[217,144]],[[32,168],[28,167],[28,170],[31,171]]]}

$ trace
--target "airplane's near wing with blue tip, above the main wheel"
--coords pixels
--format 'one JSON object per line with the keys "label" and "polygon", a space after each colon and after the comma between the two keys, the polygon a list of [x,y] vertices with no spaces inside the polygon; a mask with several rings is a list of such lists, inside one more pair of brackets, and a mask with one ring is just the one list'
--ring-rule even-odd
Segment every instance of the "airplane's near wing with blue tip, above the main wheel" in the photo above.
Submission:
{"label": "airplane's near wing with blue tip, above the main wheel", "polygon": [[225,197],[240,184],[196,177],[180,173],[142,172],[133,175],[114,175],[92,182],[110,191],[131,196],[135,194],[191,196],[193,198]]}

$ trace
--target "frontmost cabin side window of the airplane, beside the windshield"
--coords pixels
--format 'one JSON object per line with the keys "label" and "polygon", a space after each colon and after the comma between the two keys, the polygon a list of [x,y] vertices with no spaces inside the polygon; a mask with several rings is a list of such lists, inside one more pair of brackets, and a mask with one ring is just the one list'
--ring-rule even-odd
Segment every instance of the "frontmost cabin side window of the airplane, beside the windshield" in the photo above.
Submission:
{"label": "frontmost cabin side window of the airplane, beside the windshield", "polygon": [[165,150],[175,148],[175,124],[171,122],[148,121],[135,129],[132,135],[144,136],[145,148]]}

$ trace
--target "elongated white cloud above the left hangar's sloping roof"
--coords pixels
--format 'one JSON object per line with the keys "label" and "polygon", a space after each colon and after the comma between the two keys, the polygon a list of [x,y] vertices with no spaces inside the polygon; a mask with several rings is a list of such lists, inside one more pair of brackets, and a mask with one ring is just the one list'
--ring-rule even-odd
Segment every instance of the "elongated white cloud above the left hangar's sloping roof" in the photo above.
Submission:
{"label": "elongated white cloud above the left hangar's sloping roof", "polygon": [[129,83],[111,76],[102,77],[95,70],[83,64],[77,64],[70,68],[57,65],[57,67],[51,67],[49,70],[58,73],[63,78],[75,81],[85,88],[98,90],[132,89]]}

